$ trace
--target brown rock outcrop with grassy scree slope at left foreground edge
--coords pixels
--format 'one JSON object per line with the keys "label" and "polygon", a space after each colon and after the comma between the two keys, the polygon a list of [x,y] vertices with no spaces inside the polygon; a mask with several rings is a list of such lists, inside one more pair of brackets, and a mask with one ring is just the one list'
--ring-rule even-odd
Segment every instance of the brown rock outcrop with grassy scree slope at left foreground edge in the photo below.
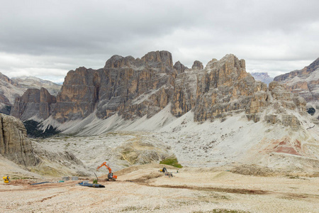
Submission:
{"label": "brown rock outcrop with grassy scree slope at left foreground edge", "polygon": [[50,148],[31,141],[19,119],[0,113],[0,129],[1,172],[5,170],[7,175],[15,177],[18,173],[28,174],[28,177],[37,174],[88,175],[85,165],[72,153],[57,149],[50,151]]}

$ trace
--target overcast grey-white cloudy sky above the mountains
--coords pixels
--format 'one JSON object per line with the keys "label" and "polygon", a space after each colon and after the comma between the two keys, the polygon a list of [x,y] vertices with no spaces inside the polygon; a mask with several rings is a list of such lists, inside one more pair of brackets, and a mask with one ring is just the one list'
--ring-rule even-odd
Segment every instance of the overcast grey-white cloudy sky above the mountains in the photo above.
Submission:
{"label": "overcast grey-white cloudy sky above the mountains", "polygon": [[272,77],[319,57],[319,1],[0,0],[0,72],[63,82],[112,55],[168,50],[191,67],[233,53]]}

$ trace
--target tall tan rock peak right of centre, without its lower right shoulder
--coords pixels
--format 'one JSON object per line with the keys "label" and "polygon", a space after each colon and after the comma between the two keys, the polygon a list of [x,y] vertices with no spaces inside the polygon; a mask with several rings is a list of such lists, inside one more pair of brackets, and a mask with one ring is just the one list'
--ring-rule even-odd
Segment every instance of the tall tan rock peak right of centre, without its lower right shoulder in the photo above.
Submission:
{"label": "tall tan rock peak right of centre, without its lower right shoulder", "polygon": [[208,62],[205,72],[198,75],[196,91],[196,121],[223,117],[232,111],[257,113],[267,105],[267,85],[255,82],[245,71],[245,60],[235,55]]}

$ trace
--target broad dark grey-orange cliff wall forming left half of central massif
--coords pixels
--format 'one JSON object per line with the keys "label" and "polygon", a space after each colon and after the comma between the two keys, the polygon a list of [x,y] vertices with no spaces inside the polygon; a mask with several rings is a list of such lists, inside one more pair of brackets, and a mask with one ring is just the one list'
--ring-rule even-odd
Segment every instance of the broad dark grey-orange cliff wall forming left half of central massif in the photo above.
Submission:
{"label": "broad dark grey-orange cliff wall forming left half of central massif", "polygon": [[94,110],[101,119],[116,113],[125,119],[152,116],[172,97],[174,75],[177,70],[167,51],[136,60],[114,55],[103,69],[80,67],[68,72],[53,116],[61,122],[83,119]]}

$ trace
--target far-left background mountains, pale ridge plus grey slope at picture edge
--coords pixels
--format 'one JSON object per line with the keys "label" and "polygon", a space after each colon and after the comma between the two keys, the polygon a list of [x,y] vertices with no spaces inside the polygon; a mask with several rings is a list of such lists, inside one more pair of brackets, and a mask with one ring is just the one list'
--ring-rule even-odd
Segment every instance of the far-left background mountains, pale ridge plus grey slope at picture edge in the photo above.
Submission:
{"label": "far-left background mountains, pale ridge plus grey slope at picture edge", "polygon": [[10,114],[11,107],[13,107],[17,97],[21,97],[27,89],[40,89],[41,87],[56,96],[60,92],[61,85],[38,77],[10,79],[0,72],[0,113]]}

